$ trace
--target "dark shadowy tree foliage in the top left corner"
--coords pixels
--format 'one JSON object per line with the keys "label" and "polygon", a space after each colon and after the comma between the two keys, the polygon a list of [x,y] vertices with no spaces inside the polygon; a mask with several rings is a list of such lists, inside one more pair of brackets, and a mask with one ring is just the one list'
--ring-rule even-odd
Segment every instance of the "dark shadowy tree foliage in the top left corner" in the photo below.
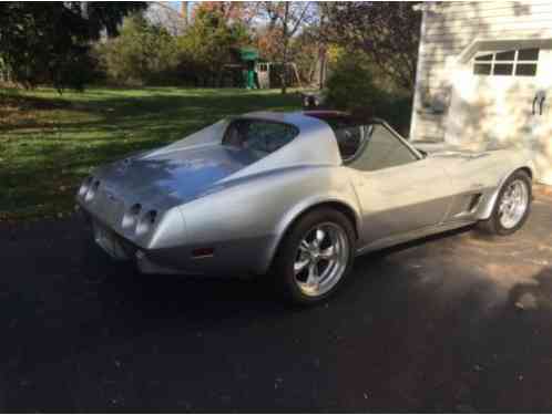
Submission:
{"label": "dark shadowy tree foliage in the top left corner", "polygon": [[0,61],[11,81],[25,87],[51,83],[61,93],[82,90],[91,68],[90,42],[117,33],[143,2],[0,3]]}

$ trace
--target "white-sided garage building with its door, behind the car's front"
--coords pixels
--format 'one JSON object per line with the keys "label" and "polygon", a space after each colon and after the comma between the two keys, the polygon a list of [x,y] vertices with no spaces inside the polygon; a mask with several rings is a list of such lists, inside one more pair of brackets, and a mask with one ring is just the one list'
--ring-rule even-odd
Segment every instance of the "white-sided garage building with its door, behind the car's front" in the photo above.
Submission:
{"label": "white-sided garage building with its door, behind the car's front", "polygon": [[421,9],[411,139],[515,145],[552,185],[552,2]]}

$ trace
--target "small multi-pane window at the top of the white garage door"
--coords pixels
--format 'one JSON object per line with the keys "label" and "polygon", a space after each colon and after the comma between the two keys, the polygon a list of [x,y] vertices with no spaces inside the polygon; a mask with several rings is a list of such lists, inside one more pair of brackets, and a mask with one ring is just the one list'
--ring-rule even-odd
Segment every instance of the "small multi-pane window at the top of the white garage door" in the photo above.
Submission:
{"label": "small multi-pane window at the top of the white garage door", "polygon": [[535,76],[539,49],[518,49],[494,53],[483,52],[473,60],[474,75]]}

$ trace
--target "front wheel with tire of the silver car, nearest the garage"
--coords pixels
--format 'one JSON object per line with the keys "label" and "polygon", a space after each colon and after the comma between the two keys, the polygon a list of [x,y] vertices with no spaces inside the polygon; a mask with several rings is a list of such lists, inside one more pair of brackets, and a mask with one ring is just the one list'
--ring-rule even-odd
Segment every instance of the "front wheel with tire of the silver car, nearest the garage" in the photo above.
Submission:
{"label": "front wheel with tire of the silver car, nearest the garage", "polygon": [[478,224],[489,235],[512,235],[525,224],[531,211],[531,178],[514,172],[502,185],[489,219]]}

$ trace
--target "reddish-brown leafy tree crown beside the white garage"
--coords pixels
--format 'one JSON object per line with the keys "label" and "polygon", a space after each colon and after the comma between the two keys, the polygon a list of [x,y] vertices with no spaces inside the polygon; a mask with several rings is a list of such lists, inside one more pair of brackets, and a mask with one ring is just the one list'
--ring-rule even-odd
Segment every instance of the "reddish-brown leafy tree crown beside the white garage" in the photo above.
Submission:
{"label": "reddish-brown leafy tree crown beside the white garage", "polygon": [[320,7],[331,41],[364,51],[397,85],[413,87],[421,24],[413,3],[347,1]]}

